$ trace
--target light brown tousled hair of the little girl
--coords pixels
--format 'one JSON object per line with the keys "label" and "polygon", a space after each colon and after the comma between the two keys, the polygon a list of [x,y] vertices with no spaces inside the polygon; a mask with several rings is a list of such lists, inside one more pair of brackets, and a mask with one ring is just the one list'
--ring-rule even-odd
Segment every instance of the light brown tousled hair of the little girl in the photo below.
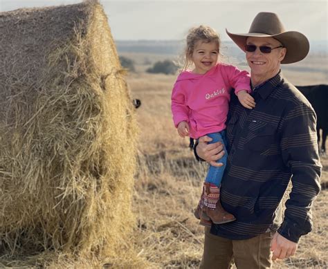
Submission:
{"label": "light brown tousled hair of the little girl", "polygon": [[192,65],[192,53],[194,53],[194,46],[197,41],[202,41],[204,43],[215,42],[217,43],[218,49],[221,44],[220,37],[213,28],[203,25],[191,28],[187,35],[187,46],[185,47],[185,59],[182,68],[183,71]]}

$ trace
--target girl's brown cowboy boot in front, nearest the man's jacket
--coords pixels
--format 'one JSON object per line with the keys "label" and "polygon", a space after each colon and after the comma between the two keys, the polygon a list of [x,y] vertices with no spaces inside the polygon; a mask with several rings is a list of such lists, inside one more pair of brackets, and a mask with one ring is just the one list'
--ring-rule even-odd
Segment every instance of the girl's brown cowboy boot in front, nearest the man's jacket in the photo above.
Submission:
{"label": "girl's brown cowboy boot in front, nearest the man's jacket", "polygon": [[207,216],[210,217],[211,221],[215,224],[228,223],[235,221],[236,218],[233,214],[230,214],[224,210],[220,203],[220,189],[212,183],[207,184],[206,192],[204,194],[204,207]]}

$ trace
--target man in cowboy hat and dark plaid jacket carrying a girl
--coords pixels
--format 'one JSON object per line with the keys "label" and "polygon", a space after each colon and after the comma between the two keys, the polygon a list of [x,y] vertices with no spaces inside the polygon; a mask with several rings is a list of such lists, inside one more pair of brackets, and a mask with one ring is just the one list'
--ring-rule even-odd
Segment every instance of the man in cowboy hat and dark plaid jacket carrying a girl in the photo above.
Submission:
{"label": "man in cowboy hat and dark plaid jacket carrying a girl", "polygon": [[[271,268],[271,251],[273,260],[291,257],[311,231],[310,207],[320,191],[316,115],[280,72],[280,64],[307,55],[309,41],[286,32],[270,12],[260,12],[247,34],[227,33],[246,52],[256,106],[244,109],[231,96],[221,204],[237,220],[206,228],[201,268],[229,268],[232,257],[239,269]],[[224,152],[210,140],[200,138],[195,154],[217,165]],[[277,208],[290,180],[281,223]]]}

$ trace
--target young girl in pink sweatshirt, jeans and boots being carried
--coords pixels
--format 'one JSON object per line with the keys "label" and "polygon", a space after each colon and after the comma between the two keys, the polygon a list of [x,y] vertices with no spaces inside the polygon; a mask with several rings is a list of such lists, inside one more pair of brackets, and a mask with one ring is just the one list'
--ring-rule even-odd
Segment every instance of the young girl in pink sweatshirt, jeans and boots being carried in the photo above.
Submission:
{"label": "young girl in pink sweatshirt, jeans and boots being carried", "polygon": [[[187,36],[185,65],[172,91],[172,114],[179,136],[198,139],[212,138],[211,143],[222,142],[226,151],[225,129],[230,101],[230,89],[248,109],[255,107],[250,96],[250,78],[246,71],[218,63],[219,35],[208,26],[192,28]],[[193,64],[192,71],[188,67]],[[203,184],[203,193],[194,212],[201,225],[235,221],[235,216],[224,210],[219,202],[219,187],[226,167],[227,153],[210,166]]]}

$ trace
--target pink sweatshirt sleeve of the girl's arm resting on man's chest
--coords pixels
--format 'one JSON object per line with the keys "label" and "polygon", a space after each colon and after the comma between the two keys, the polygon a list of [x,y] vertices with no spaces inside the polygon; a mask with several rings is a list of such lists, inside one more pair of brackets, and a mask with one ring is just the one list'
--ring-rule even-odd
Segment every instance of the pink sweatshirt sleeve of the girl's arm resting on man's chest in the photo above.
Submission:
{"label": "pink sweatshirt sleeve of the girl's arm resting on man's chest", "polygon": [[235,93],[246,90],[251,93],[250,75],[247,71],[241,71],[236,66],[227,66],[228,82],[235,89]]}

